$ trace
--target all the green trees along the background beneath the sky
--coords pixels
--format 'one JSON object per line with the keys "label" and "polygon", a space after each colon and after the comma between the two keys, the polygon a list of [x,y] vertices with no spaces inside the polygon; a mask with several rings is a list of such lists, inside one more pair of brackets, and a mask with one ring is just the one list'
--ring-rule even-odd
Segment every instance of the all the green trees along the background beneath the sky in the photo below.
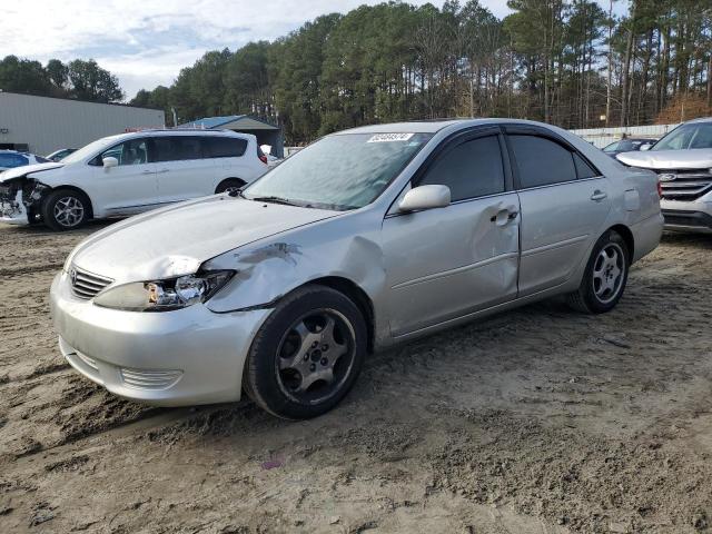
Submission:
{"label": "all the green trees along the background beneath the sky", "polygon": [[[179,123],[255,115],[281,125],[289,144],[439,117],[587,128],[712,115],[712,0],[507,4],[503,19],[478,0],[442,8],[392,1],[326,14],[273,42],[209,51],[170,87],[141,90],[130,103],[165,109],[169,123],[174,110]],[[12,90],[4,63],[24,65],[23,76],[51,91],[121,98],[116,78],[92,61],[82,69],[80,61],[42,67],[6,58],[0,88]]]}

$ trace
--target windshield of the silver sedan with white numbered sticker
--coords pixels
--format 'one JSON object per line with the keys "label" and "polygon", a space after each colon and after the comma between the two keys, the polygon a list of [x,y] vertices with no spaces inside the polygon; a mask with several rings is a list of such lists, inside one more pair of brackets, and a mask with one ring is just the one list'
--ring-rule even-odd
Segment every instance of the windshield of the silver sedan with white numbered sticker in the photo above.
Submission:
{"label": "windshield of the silver sedan with white numbered sticker", "polygon": [[384,191],[431,137],[429,134],[325,137],[255,181],[244,196],[271,197],[315,208],[360,208]]}

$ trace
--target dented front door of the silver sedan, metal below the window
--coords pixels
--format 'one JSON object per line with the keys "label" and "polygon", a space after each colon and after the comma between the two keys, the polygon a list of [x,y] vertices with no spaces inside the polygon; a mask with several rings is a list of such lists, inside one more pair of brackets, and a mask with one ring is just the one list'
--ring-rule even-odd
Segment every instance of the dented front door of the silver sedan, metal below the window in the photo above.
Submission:
{"label": "dented front door of the silver sedan, metal below the window", "polygon": [[386,218],[393,335],[516,298],[518,220],[516,194]]}

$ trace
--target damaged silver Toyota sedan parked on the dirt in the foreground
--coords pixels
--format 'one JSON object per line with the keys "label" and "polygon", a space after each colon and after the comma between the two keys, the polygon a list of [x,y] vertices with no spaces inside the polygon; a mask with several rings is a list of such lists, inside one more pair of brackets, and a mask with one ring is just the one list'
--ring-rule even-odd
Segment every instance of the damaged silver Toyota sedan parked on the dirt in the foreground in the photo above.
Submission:
{"label": "damaged silver Toyota sedan parked on the dirt in the foreground", "polygon": [[661,237],[657,178],[516,120],[327,136],[245,190],[90,236],[51,288],[80,373],[160,405],[335,406],[368,354],[554,295],[611,310]]}

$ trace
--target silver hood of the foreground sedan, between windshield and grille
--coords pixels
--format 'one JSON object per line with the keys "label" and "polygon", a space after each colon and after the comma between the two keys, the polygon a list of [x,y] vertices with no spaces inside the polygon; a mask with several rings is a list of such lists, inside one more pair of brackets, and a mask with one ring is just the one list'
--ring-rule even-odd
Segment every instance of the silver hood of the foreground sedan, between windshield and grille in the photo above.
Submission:
{"label": "silver hood of the foreground sedan, between windshield and grille", "polygon": [[234,248],[336,215],[211,196],[105,228],[79,244],[69,261],[118,283],[169,278],[195,273]]}

